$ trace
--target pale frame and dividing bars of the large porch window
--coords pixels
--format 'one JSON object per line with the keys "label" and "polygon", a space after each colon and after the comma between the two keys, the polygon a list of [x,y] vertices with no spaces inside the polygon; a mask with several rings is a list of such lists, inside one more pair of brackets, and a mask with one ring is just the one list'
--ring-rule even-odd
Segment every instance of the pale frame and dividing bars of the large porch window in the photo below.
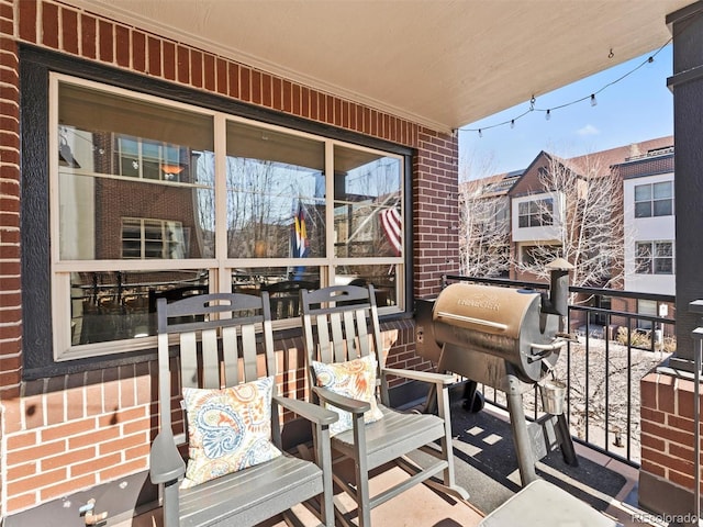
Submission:
{"label": "pale frame and dividing bars of the large porch window", "polygon": [[[126,96],[133,99],[152,101],[159,105],[172,106],[174,109],[186,110],[193,113],[210,115],[214,123],[214,152],[215,152],[215,200],[220,204],[217,208],[216,225],[226,225],[226,206],[222,206],[225,200],[226,188],[225,182],[225,165],[226,165],[226,122],[239,121],[242,123],[253,124],[261,128],[281,132],[290,135],[299,135],[301,137],[312,138],[324,143],[325,148],[325,184],[326,184],[326,208],[325,223],[326,228],[326,255],[322,257],[306,258],[305,266],[320,268],[321,287],[335,283],[335,273],[337,266],[394,266],[395,268],[395,295],[397,304],[393,306],[380,306],[379,312],[394,313],[405,310],[405,250],[403,247],[400,256],[388,257],[367,257],[367,258],[337,258],[334,255],[334,147],[342,146],[356,150],[367,152],[383,157],[397,158],[400,167],[400,203],[405,202],[404,194],[410,189],[405,188],[405,158],[402,155],[393,154],[382,149],[369,148],[352,143],[333,139],[330,137],[315,135],[311,133],[295,131],[293,128],[266,124],[258,121],[237,116],[235,114],[221,111],[210,110],[207,108],[186,104],[155,96],[144,94],[141,92],[130,91],[116,88],[102,82],[79,79],[72,76],[49,72],[49,115],[48,115],[48,152],[56,153],[59,149],[58,137],[58,85],[62,82],[78,85],[81,87],[93,88],[96,90],[113,92],[115,94]],[[66,260],[62,259],[59,254],[59,197],[58,197],[58,175],[59,161],[58,156],[49,155],[49,221],[51,221],[51,276],[52,276],[52,318],[53,318],[53,350],[55,361],[66,361],[79,358],[100,357],[113,355],[118,352],[135,351],[141,349],[149,349],[156,346],[156,337],[144,337],[138,339],[112,340],[96,344],[71,345],[71,291],[70,276],[72,272],[110,272],[110,271],[164,271],[164,270],[183,270],[183,269],[208,269],[209,283],[211,292],[228,292],[232,287],[232,271],[235,268],[249,267],[260,268],[261,266],[284,267],[290,266],[290,258],[268,258],[266,260],[245,258],[235,259],[227,257],[226,232],[222,228],[215,232],[215,255],[213,258],[198,259],[118,259],[118,260]],[[107,176],[119,177],[119,176]],[[405,225],[410,223],[406,217],[409,211],[401,211]],[[404,240],[404,236],[402,237]],[[293,327],[298,325],[298,321],[284,319],[277,321],[276,327]]]}

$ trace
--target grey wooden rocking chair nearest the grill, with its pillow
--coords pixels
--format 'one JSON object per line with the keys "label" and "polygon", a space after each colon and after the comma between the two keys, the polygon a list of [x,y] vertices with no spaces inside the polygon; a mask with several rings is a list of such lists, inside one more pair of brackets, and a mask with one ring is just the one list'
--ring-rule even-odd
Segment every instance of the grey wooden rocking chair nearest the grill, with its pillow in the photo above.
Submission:
{"label": "grey wooden rocking chair nearest the grill, with its pillow", "polygon": [[[349,413],[342,414],[337,425],[346,416],[352,422],[350,429],[333,430],[332,448],[334,453],[341,453],[334,458],[333,475],[335,482],[355,500],[358,525],[369,527],[371,508],[421,482],[459,500],[468,498],[468,493],[456,484],[454,474],[448,396],[454,379],[446,374],[384,367],[373,287],[335,285],[301,291],[301,310],[313,399],[327,407]],[[373,366],[369,367],[368,359]],[[370,397],[350,397],[345,386],[364,386],[368,378],[362,379],[359,372],[367,368],[373,368],[372,377],[376,377]],[[345,379],[345,372],[350,372],[352,382]],[[438,415],[402,413],[388,407],[389,375],[434,385]],[[376,396],[380,396],[380,401],[376,401]],[[369,423],[375,418],[378,421]],[[431,453],[425,458],[432,462],[421,467],[416,458],[411,460],[406,457],[416,450]],[[348,478],[345,480],[341,475],[343,471],[337,470],[338,463],[345,459],[354,460],[355,481],[350,483]],[[406,470],[409,478],[376,496],[369,496],[369,472],[391,461]],[[435,478],[438,474],[443,475],[442,480]],[[336,513],[343,523],[353,525],[349,512]]]}

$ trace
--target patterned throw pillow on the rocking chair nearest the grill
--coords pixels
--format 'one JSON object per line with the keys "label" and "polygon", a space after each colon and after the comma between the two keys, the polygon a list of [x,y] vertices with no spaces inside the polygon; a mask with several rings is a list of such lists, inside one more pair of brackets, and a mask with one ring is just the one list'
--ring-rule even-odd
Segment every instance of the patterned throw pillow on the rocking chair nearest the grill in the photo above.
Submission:
{"label": "patterned throw pillow on the rocking chair nearest the grill", "polygon": [[[364,414],[364,423],[375,423],[383,418],[383,413],[376,403],[376,357],[367,355],[347,362],[312,361],[317,385],[347,397],[370,403],[371,407]],[[336,412],[339,419],[330,425],[330,436],[350,430],[352,414],[331,404],[325,407]]]}

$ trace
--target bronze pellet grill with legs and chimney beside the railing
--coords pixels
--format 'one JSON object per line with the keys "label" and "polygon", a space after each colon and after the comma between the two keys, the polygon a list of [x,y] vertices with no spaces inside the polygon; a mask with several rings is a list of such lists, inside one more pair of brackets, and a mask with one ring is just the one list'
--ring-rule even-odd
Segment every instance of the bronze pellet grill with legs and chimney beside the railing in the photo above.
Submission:
{"label": "bronze pellet grill with legs and chimney beside the railing", "polygon": [[[479,383],[505,392],[523,486],[537,479],[535,462],[555,448],[567,463],[578,464],[563,415],[565,386],[553,378],[560,351],[573,339],[565,330],[572,266],[557,259],[547,267],[548,295],[457,282],[434,299],[419,300],[415,310],[417,354],[437,371],[468,380],[466,408],[482,407]],[[545,414],[528,424],[523,395],[535,386]]]}

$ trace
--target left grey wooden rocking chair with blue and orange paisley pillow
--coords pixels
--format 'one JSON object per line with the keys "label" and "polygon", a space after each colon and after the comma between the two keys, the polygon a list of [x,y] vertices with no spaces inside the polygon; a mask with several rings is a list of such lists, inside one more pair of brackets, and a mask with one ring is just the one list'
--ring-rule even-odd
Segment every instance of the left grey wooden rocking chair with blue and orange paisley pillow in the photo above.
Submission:
{"label": "left grey wooden rocking chair with blue and orange paisley pillow", "polygon": [[[290,511],[302,502],[321,525],[334,525],[328,426],[337,416],[277,394],[267,293],[202,294],[168,304],[159,299],[157,311],[160,427],[152,445],[150,478],[163,485],[164,525],[245,527],[279,514],[289,525],[302,525]],[[258,332],[263,361],[257,361]],[[175,436],[182,428],[178,422],[176,430],[171,427],[181,401],[190,406],[183,423],[190,438],[188,472],[177,449],[185,439]],[[314,424],[319,464],[282,452],[279,407]],[[261,437],[265,433],[270,440]],[[233,446],[249,437],[252,448],[238,456]],[[233,457],[212,460],[223,451]],[[272,459],[261,461],[267,457]],[[315,496],[321,497],[311,505]]]}

